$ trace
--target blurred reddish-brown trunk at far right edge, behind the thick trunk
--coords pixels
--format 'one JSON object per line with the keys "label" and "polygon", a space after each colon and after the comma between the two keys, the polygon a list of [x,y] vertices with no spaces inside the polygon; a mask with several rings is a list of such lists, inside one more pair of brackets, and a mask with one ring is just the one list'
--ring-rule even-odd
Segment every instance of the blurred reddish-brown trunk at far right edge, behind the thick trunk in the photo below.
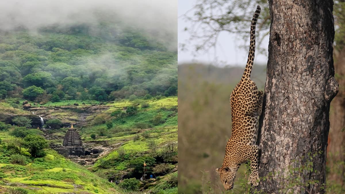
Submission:
{"label": "blurred reddish-brown trunk at far right edge, behind the thick trunk", "polygon": [[344,162],[345,162],[345,49],[334,52],[336,79],[339,83],[339,93],[331,103],[329,116],[329,136],[327,147],[327,167],[329,174],[327,182],[344,185]]}

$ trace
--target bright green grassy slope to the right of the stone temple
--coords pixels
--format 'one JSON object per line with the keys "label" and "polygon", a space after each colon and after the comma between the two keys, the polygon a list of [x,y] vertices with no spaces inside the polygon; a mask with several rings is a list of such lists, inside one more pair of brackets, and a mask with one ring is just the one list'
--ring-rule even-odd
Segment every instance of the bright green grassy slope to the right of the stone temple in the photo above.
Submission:
{"label": "bright green grassy slope to the right of the stone temple", "polygon": [[[109,162],[111,167],[109,168],[102,168],[100,166],[100,160],[98,160],[95,165],[92,166],[92,170],[98,172],[99,174],[107,173],[107,172],[116,172],[117,171],[126,171],[130,170],[129,163],[131,160],[135,159],[136,156],[142,155],[142,156],[149,156],[151,151],[147,145],[146,138],[142,137],[142,133],[149,133],[150,138],[155,139],[158,149],[157,152],[159,152],[167,142],[170,141],[177,141],[177,97],[168,97],[163,98],[159,100],[142,100],[142,101],[136,101],[135,103],[148,103],[149,107],[147,108],[139,108],[138,112],[135,115],[125,117],[123,119],[115,119],[113,120],[113,125],[116,127],[124,127],[127,128],[127,130],[114,132],[112,134],[113,137],[98,137],[99,140],[106,140],[109,145],[115,145],[117,143],[123,143],[120,147],[115,148],[112,152],[110,152],[108,155],[102,157],[103,162]],[[124,101],[119,103],[112,104],[111,108],[105,113],[110,114],[112,111],[117,110],[118,108],[130,106],[132,102],[130,101]],[[109,105],[109,104],[108,104]],[[140,107],[140,106],[139,106]],[[135,124],[137,122],[141,123],[150,123],[150,120],[154,118],[157,114],[162,115],[162,119],[165,120],[165,123],[162,123],[157,126],[153,126],[150,129],[136,129]],[[92,132],[97,132],[97,128],[104,127],[105,124],[102,125],[96,125],[91,129],[83,129],[84,133],[83,136],[85,139],[91,139],[89,138],[89,134]],[[110,129],[111,131],[111,129]],[[140,139],[134,141],[133,137],[135,135],[139,134]],[[118,149],[123,148],[126,156],[128,156],[128,159],[121,160],[119,158],[119,154],[117,152]],[[121,161],[119,163],[116,163],[114,161]],[[177,164],[176,164],[177,165]],[[118,172],[120,174],[120,172]],[[165,176],[162,176],[159,181],[157,181],[157,184],[155,184],[152,187],[149,187],[149,189],[156,189],[159,190],[162,185],[166,184],[167,179],[170,176],[177,176],[177,172],[167,174]],[[164,193],[177,193],[177,187],[164,189],[162,191]]]}

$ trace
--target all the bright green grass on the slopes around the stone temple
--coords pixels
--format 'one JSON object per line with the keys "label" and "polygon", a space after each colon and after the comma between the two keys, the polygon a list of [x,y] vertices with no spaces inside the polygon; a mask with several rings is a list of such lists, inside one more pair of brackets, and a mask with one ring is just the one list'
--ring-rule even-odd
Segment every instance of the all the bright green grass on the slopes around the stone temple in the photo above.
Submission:
{"label": "all the bright green grass on the slopes around the stone temple", "polygon": [[[58,103],[47,103],[43,106],[67,106],[68,104],[78,103],[81,106],[82,101],[65,100]],[[89,102],[90,104],[98,104],[96,102]],[[141,108],[141,104],[147,103],[148,107]],[[140,104],[136,114],[125,116],[122,118],[111,117],[110,114],[118,109]],[[73,106],[73,105],[72,105]],[[157,99],[137,99],[134,101],[122,100],[107,104],[108,110],[102,111],[98,114],[105,114],[106,119],[112,120],[113,127],[107,129],[107,136],[99,136],[98,130],[106,128],[106,124],[93,125],[94,116],[90,116],[90,122],[87,126],[79,130],[84,142],[93,140],[90,134],[96,134],[96,140],[106,141],[109,146],[117,143],[123,143],[120,147],[111,151],[108,155],[98,160],[95,165],[90,166],[96,174],[106,176],[119,176],[122,173],[131,173],[133,171],[133,161],[138,158],[151,157],[152,151],[148,147],[148,138],[155,139],[157,143],[157,151],[160,152],[162,146],[167,142],[177,141],[177,97],[168,97]],[[51,114],[57,118],[65,120],[76,119],[77,113],[71,110],[55,111]],[[152,119],[161,115],[162,122],[158,125],[152,123]],[[136,127],[137,123],[145,123],[149,125],[149,129],[139,129]],[[62,130],[61,130],[62,131]],[[53,131],[57,136],[64,135],[60,130]],[[148,133],[149,137],[142,136],[143,133]],[[139,135],[139,140],[134,141],[133,137]],[[8,132],[0,131],[1,139],[13,138]],[[118,149],[123,148],[125,152],[124,158],[118,154]],[[35,159],[26,166],[10,164],[10,155],[7,153],[0,153],[0,177],[11,183],[21,183],[30,187],[40,188],[40,192],[86,192],[86,193],[116,193],[114,185],[109,183],[106,179],[102,179],[91,173],[82,166],[72,163],[69,160],[61,157],[55,151],[48,150],[48,155],[43,159]],[[151,157],[152,158],[152,157]],[[152,168],[155,164],[150,164]],[[164,176],[165,177],[165,176]],[[166,180],[166,178],[162,179]],[[96,183],[96,184],[95,184]],[[161,186],[161,185],[164,186]],[[74,185],[74,186],[73,186]],[[78,187],[76,187],[76,185]],[[160,186],[159,186],[160,185]],[[115,186],[115,189],[118,188]],[[160,193],[172,194],[177,193],[177,187],[169,187],[166,181],[159,181],[159,184],[153,186],[152,189]],[[120,192],[121,193],[121,192]]]}

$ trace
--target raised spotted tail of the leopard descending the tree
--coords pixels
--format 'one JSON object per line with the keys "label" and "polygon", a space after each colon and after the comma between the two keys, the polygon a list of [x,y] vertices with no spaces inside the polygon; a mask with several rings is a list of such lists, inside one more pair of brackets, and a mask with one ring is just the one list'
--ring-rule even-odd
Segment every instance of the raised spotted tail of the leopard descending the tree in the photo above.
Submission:
{"label": "raised spotted tail of the leopard descending the tree", "polygon": [[246,68],[244,69],[242,78],[250,78],[250,74],[252,73],[254,55],[255,55],[255,27],[256,27],[256,21],[259,17],[260,11],[261,11],[260,6],[257,6],[253,19],[252,19],[252,24],[250,25],[249,54],[248,54],[247,65],[246,65]]}

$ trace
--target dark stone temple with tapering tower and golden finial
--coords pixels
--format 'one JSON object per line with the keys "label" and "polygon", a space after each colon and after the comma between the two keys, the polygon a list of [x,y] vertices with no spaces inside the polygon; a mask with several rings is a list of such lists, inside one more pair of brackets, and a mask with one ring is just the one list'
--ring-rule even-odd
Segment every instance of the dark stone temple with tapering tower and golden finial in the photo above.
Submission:
{"label": "dark stone temple with tapering tower and golden finial", "polygon": [[65,138],[63,138],[63,147],[59,151],[63,153],[63,155],[72,155],[72,156],[83,156],[85,155],[85,148],[83,146],[83,142],[81,141],[81,137],[78,131],[73,128],[73,124],[71,128],[68,129]]}

